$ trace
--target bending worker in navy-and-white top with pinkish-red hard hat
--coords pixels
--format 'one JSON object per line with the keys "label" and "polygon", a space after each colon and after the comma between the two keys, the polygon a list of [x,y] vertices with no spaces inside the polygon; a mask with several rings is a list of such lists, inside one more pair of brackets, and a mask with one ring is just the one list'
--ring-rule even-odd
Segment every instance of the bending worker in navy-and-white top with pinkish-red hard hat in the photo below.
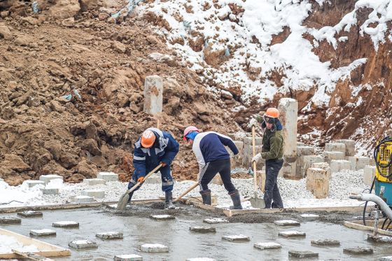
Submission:
{"label": "bending worker in navy-and-white top with pinkish-red hard hat", "polygon": [[211,190],[208,184],[219,172],[223,185],[228,190],[232,202],[232,209],[242,209],[239,192],[235,189],[230,178],[230,155],[225,146],[237,155],[238,149],[230,137],[218,132],[202,132],[194,126],[187,127],[183,133],[183,140],[192,145],[193,153],[199,164],[198,181],[203,203],[211,205]]}

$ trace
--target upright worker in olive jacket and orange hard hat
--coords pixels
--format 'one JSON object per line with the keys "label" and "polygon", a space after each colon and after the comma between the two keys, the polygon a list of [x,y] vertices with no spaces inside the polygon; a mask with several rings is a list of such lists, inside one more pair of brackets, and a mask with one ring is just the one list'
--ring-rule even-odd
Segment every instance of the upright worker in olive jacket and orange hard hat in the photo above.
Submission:
{"label": "upright worker in olive jacket and orange hard hat", "polygon": [[[251,125],[257,121],[251,122]],[[279,121],[279,111],[276,108],[267,108],[262,117],[261,127],[264,129],[262,137],[262,153],[252,158],[252,162],[265,160],[265,209],[283,208],[283,202],[279,193],[277,178],[283,165],[283,134],[282,125]]]}

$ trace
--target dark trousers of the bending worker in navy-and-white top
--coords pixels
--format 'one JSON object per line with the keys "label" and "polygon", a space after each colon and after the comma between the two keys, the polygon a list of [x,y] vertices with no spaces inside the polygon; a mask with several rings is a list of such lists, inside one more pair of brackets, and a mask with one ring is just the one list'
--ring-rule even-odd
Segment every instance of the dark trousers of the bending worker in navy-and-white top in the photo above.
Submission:
{"label": "dark trousers of the bending worker in navy-and-white top", "polygon": [[230,159],[207,162],[199,176],[200,191],[209,189],[208,183],[212,181],[217,173],[221,175],[225,189],[228,190],[229,193],[233,192],[235,190],[235,186],[230,178]]}

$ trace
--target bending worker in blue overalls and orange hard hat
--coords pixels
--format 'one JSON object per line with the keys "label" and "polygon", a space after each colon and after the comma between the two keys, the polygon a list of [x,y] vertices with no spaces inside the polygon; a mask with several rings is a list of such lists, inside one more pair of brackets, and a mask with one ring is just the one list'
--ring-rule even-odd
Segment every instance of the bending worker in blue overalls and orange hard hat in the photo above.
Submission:
{"label": "bending worker in blue overalls and orange hard hat", "polygon": [[[172,190],[174,183],[170,165],[177,153],[179,153],[179,143],[171,134],[156,128],[146,129],[134,144],[134,174],[128,184],[128,189],[137,182],[144,182],[146,174],[162,163],[163,167],[159,171],[162,177],[162,190],[165,191],[165,207],[173,209]],[[130,193],[130,201],[133,194],[134,192]]]}

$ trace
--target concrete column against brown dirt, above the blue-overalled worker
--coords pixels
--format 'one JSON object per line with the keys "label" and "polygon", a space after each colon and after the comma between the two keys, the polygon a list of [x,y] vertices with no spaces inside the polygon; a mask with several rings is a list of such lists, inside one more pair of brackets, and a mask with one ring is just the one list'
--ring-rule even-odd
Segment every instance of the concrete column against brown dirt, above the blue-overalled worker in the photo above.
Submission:
{"label": "concrete column against brown dirt, above the blue-overalled worker", "polygon": [[147,76],[144,81],[144,112],[162,113],[163,82],[160,76]]}

